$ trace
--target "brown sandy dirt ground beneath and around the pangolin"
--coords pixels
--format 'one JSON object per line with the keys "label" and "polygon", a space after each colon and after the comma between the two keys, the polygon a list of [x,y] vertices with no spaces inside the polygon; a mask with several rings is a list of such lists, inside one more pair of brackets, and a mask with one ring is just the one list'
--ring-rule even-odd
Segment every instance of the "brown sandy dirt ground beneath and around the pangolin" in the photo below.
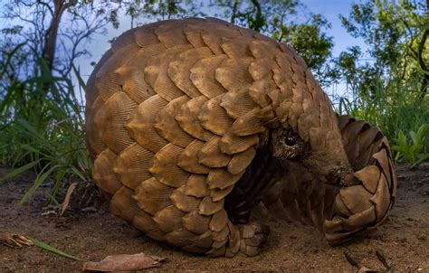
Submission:
{"label": "brown sandy dirt ground beneath and around the pangolin", "polygon": [[[5,170],[0,169],[0,176]],[[253,258],[210,259],[171,248],[142,236],[137,230],[112,216],[106,202],[96,198],[80,203],[73,193],[74,206],[65,217],[50,213],[42,189],[33,201],[16,210],[32,175],[0,184],[0,229],[32,236],[85,260],[108,255],[145,252],[164,257],[161,267],[150,271],[358,271],[361,267],[378,271],[429,272],[429,163],[409,171],[397,167],[398,199],[389,219],[376,231],[338,247],[330,247],[314,227],[300,223],[271,221],[268,244]],[[87,200],[86,197],[83,197]],[[82,212],[80,208],[86,208]],[[389,268],[377,259],[386,258]],[[358,262],[353,267],[346,255]],[[11,249],[0,244],[0,272],[73,272],[82,262],[65,259],[36,247]]]}

